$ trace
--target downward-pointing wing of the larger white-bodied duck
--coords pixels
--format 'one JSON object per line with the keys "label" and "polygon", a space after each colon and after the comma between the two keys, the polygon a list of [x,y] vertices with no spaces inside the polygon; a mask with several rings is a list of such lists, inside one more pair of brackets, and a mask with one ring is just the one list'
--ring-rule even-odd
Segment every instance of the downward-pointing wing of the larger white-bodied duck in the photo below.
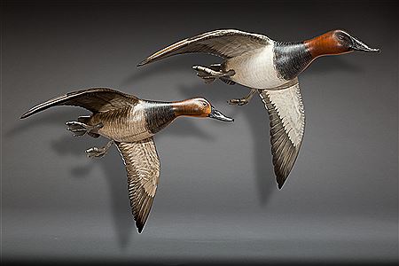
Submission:
{"label": "downward-pointing wing of the larger white-bodied duck", "polygon": [[270,143],[274,172],[281,189],[301,148],[305,112],[298,80],[284,90],[262,90],[270,116]]}

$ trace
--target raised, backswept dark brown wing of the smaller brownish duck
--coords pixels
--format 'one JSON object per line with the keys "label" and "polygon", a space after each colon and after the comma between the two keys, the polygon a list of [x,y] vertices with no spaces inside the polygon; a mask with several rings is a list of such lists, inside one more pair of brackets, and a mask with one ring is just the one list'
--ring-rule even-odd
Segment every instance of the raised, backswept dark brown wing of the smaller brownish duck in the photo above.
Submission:
{"label": "raised, backswept dark brown wing of the smaller brownish duck", "polygon": [[91,112],[107,112],[123,106],[136,105],[138,98],[107,88],[93,88],[66,93],[32,107],[20,118],[26,118],[52,106],[81,106]]}

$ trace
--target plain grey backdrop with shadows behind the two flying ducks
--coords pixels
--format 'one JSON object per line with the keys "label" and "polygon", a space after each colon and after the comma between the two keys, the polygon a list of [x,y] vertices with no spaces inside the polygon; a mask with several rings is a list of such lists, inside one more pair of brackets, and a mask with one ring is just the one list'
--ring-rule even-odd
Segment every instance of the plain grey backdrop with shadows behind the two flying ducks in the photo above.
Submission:
{"label": "plain grey backdrop with shadows behind the two flying ducks", "polygon": [[[5,3],[2,27],[2,251],[5,261],[397,262],[398,27],[395,2]],[[300,76],[307,125],[278,191],[269,119],[247,89],[207,85],[185,55],[137,68],[187,36],[239,28],[299,41],[344,28],[379,54],[318,59]],[[156,137],[160,185],[142,234],[130,215],[116,149],[74,138],[57,107],[106,86],[155,100],[203,96],[234,123],[178,119]]]}

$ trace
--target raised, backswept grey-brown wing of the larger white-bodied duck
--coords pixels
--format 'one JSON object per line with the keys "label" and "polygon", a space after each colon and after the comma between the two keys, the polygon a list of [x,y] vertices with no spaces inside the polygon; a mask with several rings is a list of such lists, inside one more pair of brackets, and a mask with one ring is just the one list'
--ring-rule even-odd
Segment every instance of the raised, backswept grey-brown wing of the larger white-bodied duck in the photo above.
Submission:
{"label": "raised, backswept grey-brown wing of the larger white-bodied duck", "polygon": [[137,66],[189,52],[205,52],[224,59],[231,59],[246,51],[253,51],[268,44],[270,44],[270,39],[265,35],[247,33],[237,29],[219,29],[169,45],[167,48],[155,52]]}

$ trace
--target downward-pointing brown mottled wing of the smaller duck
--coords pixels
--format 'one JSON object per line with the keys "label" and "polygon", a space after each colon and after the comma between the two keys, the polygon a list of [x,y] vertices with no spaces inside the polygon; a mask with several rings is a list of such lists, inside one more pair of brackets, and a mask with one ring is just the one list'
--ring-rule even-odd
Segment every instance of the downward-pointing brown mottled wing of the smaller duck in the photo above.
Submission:
{"label": "downward-pointing brown mottled wing of the smaller duck", "polygon": [[143,231],[160,179],[160,160],[153,137],[135,143],[117,143],[128,172],[132,214],[138,232]]}

